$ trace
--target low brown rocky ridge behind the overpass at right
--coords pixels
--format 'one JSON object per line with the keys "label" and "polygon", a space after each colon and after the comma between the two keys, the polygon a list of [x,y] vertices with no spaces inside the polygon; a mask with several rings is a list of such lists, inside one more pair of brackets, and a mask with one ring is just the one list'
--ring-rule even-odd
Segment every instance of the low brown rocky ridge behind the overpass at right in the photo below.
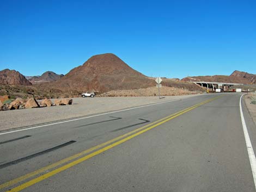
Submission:
{"label": "low brown rocky ridge behind the overpass at right", "polygon": [[221,82],[221,83],[242,83],[255,84],[256,75],[241,71],[234,71],[230,76],[215,75],[215,76],[194,76],[185,77],[181,80],[186,82],[204,81],[204,82]]}

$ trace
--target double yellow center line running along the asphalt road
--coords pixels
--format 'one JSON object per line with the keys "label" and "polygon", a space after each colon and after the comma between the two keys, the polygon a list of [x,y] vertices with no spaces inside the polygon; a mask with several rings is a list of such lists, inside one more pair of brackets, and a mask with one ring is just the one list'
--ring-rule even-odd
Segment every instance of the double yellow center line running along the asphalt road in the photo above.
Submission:
{"label": "double yellow center line running along the asphalt road", "polygon": [[[130,140],[130,139],[132,139],[132,138],[134,138],[134,137],[136,137],[136,136],[138,136],[138,135],[140,135],[142,133],[145,133],[145,132],[149,131],[150,129],[153,129],[153,128],[157,127],[157,126],[160,126],[163,123],[165,123],[167,121],[170,121],[170,120],[174,119],[175,117],[178,117],[178,116],[180,116],[180,115],[182,115],[184,113],[187,113],[187,112],[189,112],[190,110],[192,110],[194,108],[202,106],[205,103],[214,101],[214,100],[216,100],[219,97],[221,97],[221,96],[217,96],[217,97],[211,98],[209,100],[203,101],[203,102],[198,103],[198,104],[196,104],[194,106],[191,106],[191,107],[188,107],[188,108],[186,108],[184,110],[181,110],[180,112],[177,112],[177,113],[174,113],[172,115],[166,116],[166,117],[164,117],[164,118],[162,118],[160,120],[157,120],[155,122],[149,123],[148,125],[140,127],[138,129],[135,129],[135,130],[133,130],[133,131],[131,131],[129,133],[120,135],[119,137],[114,138],[114,139],[109,140],[109,141],[106,141],[105,143],[102,143],[100,145],[94,146],[94,147],[89,148],[87,150],[84,150],[84,151],[82,151],[80,153],[74,154],[73,156],[70,156],[68,158],[59,160],[56,163],[53,163],[53,164],[48,165],[48,166],[45,166],[44,168],[41,168],[39,170],[36,170],[34,172],[31,172],[31,173],[26,174],[24,176],[21,176],[19,178],[13,179],[13,180],[11,180],[11,181],[9,181],[7,183],[3,183],[3,184],[0,185],[0,189],[10,187],[11,185],[17,184],[17,183],[19,183],[21,181],[24,181],[25,179],[34,177],[34,176],[39,175],[39,174],[41,174],[43,172],[46,172],[46,171],[51,170],[53,168],[56,168],[56,169],[54,169],[54,170],[52,170],[50,172],[47,172],[44,175],[41,175],[41,176],[36,177],[34,179],[31,179],[30,181],[28,181],[26,183],[23,183],[23,184],[15,187],[13,189],[8,190],[8,191],[21,191],[22,189],[28,188],[29,186],[31,186],[31,185],[33,185],[35,183],[38,183],[38,182],[40,182],[40,181],[42,181],[42,180],[44,180],[44,179],[46,179],[48,177],[56,175],[59,172],[62,172],[64,170],[66,170],[66,169],[69,169],[72,166],[75,166],[75,165],[77,165],[79,163],[84,162],[85,160],[87,160],[89,158],[92,158],[92,157],[96,156],[97,154],[105,152],[105,151],[109,150],[110,148],[113,148],[113,147],[115,147],[117,145],[120,145],[120,144],[124,143],[127,140]],[[90,152],[92,152],[92,153],[90,153]],[[88,154],[88,153],[90,153],[90,154]],[[84,157],[81,157],[84,154],[87,154],[87,155],[84,156]],[[81,158],[78,158],[78,157],[81,157]],[[70,162],[70,163],[68,163],[68,162]],[[68,163],[68,164],[65,164],[65,163]],[[65,165],[63,165],[63,164],[65,164]],[[60,166],[60,165],[63,165],[63,166]],[[57,168],[57,167],[59,167],[59,168]]]}

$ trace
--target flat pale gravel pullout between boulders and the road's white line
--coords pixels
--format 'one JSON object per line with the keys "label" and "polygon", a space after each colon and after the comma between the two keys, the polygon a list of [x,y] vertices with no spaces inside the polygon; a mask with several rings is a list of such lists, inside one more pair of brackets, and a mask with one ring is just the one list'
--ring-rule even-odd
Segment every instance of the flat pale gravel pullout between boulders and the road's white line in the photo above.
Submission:
{"label": "flat pale gravel pullout between boulders and the road's white line", "polygon": [[69,106],[52,106],[44,108],[18,109],[0,111],[0,131],[18,127],[38,125],[41,123],[72,119],[92,114],[110,112],[146,104],[166,102],[197,95],[157,96],[151,97],[94,97],[72,98]]}

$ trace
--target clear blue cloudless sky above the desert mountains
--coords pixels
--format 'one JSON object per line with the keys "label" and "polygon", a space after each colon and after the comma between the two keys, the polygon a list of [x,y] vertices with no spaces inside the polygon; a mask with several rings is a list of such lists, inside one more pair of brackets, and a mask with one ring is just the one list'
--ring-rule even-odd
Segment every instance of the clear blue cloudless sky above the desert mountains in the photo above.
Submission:
{"label": "clear blue cloudless sky above the desert mountains", "polygon": [[0,70],[66,74],[101,53],[148,76],[256,74],[256,1],[0,0]]}

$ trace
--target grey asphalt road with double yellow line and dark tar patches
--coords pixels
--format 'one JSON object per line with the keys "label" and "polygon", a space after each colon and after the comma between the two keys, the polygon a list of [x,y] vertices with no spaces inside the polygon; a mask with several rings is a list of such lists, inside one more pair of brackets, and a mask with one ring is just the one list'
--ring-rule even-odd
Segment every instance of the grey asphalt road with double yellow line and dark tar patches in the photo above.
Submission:
{"label": "grey asphalt road with double yellow line and dark tar patches", "polygon": [[0,191],[255,191],[240,96],[200,95],[2,134]]}

